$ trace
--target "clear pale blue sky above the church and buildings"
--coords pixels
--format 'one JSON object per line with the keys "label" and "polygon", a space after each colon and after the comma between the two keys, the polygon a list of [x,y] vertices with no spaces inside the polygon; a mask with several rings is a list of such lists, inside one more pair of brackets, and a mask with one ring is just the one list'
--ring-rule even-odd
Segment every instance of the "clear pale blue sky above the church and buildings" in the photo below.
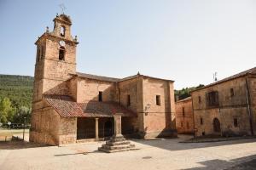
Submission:
{"label": "clear pale blue sky above the church and buildings", "polygon": [[78,36],[77,71],[174,80],[176,89],[256,65],[253,0],[0,0],[0,74],[33,76],[34,42],[59,5]]}

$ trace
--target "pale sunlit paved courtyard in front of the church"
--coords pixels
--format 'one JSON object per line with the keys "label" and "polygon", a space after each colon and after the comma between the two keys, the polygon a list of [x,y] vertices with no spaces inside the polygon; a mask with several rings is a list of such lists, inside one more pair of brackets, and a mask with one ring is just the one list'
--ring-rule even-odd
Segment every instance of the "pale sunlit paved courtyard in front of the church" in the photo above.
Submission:
{"label": "pale sunlit paved courtyard in front of the church", "polygon": [[[0,143],[0,169],[253,169],[256,139],[214,143],[178,143],[179,139],[132,140],[140,150],[97,151],[102,142],[62,147]],[[244,163],[244,162],[249,162]],[[243,164],[242,164],[243,163]],[[254,167],[256,168],[256,167]]]}

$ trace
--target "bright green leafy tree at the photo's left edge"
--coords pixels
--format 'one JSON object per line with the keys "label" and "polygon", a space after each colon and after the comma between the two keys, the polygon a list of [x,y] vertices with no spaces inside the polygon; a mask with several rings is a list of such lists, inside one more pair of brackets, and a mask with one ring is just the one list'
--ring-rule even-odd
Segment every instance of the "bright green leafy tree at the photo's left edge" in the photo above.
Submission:
{"label": "bright green leafy tree at the photo's left edge", "polygon": [[3,98],[0,101],[0,122],[6,123],[12,121],[15,109],[9,98]]}

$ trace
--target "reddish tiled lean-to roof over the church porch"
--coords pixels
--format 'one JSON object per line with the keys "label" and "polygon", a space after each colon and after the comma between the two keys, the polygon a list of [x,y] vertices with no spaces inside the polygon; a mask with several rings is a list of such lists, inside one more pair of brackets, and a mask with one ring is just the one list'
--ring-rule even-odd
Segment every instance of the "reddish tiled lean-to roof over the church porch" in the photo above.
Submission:
{"label": "reddish tiled lean-to roof over the church porch", "polygon": [[62,117],[111,117],[116,113],[121,116],[137,116],[135,112],[114,102],[77,103],[70,96],[55,94],[46,94],[44,99]]}

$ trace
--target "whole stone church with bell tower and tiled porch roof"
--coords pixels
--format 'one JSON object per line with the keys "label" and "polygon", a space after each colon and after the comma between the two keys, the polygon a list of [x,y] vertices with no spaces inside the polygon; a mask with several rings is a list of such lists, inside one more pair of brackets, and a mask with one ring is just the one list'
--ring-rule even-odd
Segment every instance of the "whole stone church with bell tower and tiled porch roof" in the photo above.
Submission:
{"label": "whole stone church with bell tower and tiled porch roof", "polygon": [[137,74],[100,77],[76,71],[72,21],[57,15],[37,42],[30,141],[70,144],[106,139],[119,114],[126,136],[175,136],[173,81]]}

